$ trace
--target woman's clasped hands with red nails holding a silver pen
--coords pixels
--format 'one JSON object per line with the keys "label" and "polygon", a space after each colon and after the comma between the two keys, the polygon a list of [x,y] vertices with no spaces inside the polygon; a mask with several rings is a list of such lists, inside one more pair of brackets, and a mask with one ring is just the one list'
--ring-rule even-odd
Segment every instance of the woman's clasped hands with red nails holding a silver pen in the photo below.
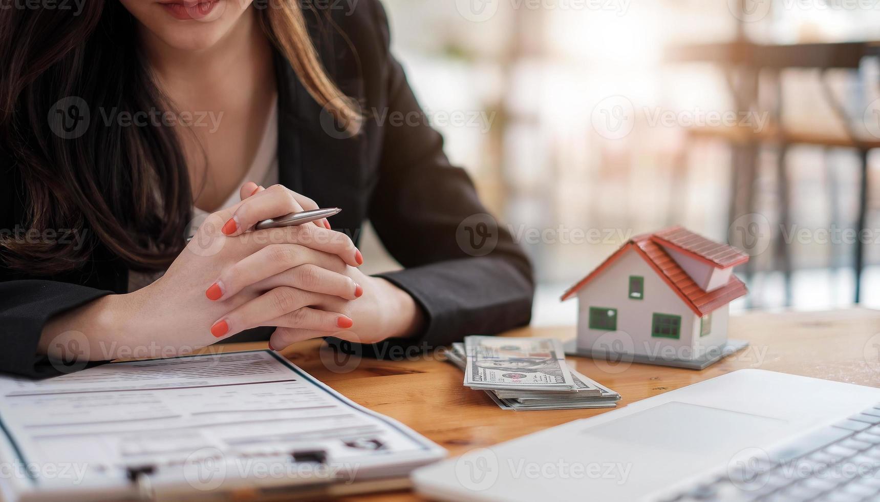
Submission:
{"label": "woman's clasped hands with red nails holding a silver pen", "polygon": [[161,312],[166,330],[156,336],[203,346],[270,326],[269,346],[281,351],[319,336],[376,343],[419,329],[414,299],[364,275],[361,252],[326,219],[252,231],[261,220],[318,209],[312,199],[253,182],[240,192],[242,202],[211,214],[163,277],[130,293],[139,312]]}

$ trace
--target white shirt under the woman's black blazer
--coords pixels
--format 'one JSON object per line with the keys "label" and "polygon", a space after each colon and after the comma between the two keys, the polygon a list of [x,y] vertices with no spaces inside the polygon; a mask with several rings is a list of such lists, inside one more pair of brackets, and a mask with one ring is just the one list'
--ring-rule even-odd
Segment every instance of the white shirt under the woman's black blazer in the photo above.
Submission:
{"label": "white shirt under the woman's black blazer", "polygon": [[[269,114],[266,125],[263,128],[263,137],[260,139],[260,145],[257,147],[257,153],[253,156],[251,167],[247,170],[244,178],[238,183],[238,187],[245,184],[246,181],[253,181],[263,187],[270,187],[278,183],[278,98],[269,108]],[[232,191],[223,204],[217,210],[224,210],[239,203],[238,188]],[[193,207],[193,219],[187,228],[187,234],[193,235],[200,225],[208,218],[209,212]],[[137,290],[153,284],[159,277],[165,274],[164,270],[156,272],[136,272],[128,271],[128,292],[136,292]]]}

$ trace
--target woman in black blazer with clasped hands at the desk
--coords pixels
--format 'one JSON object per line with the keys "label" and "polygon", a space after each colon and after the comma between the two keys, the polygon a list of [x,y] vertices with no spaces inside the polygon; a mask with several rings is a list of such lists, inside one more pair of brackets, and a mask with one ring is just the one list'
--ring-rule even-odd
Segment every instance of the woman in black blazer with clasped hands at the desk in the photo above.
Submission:
{"label": "woman in black blazer with clasped hands at the desk", "polygon": [[[446,159],[378,0],[0,16],[0,371],[242,336],[385,354],[528,323],[530,264]],[[343,211],[247,232],[317,207]],[[405,269],[357,269],[367,219]]]}

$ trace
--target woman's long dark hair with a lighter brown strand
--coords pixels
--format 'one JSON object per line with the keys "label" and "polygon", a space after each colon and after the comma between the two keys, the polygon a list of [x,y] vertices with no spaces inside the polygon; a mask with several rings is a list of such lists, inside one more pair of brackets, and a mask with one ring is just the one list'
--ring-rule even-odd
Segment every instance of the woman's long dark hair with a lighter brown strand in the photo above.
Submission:
{"label": "woman's long dark hair with a lighter brown strand", "polygon": [[[102,116],[173,109],[150,78],[135,18],[118,0],[86,0],[77,3],[81,12],[73,3],[64,10],[0,1],[0,148],[26,192],[28,230],[77,233],[76,240],[0,235],[4,265],[53,274],[81,267],[103,245],[131,269],[167,267],[185,245],[193,203],[177,133]],[[341,123],[356,123],[319,63],[296,0],[258,15],[312,97]]]}

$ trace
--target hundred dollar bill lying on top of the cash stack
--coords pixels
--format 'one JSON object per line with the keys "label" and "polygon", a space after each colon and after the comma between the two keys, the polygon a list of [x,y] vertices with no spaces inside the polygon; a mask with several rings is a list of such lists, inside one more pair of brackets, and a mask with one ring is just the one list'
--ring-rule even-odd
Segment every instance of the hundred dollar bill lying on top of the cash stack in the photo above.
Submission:
{"label": "hundred dollar bill lying on top of the cash stack", "polygon": [[562,344],[553,338],[468,336],[465,353],[465,385],[470,388],[577,388]]}

